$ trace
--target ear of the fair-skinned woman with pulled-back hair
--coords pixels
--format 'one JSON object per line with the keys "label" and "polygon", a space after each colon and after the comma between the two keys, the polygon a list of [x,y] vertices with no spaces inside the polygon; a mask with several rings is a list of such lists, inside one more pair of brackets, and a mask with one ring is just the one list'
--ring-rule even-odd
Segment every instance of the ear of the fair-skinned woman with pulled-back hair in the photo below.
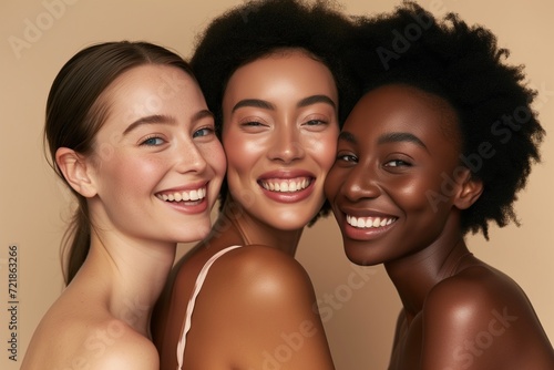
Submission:
{"label": "ear of the fair-skinned woman with pulled-back hair", "polygon": [[85,157],[69,147],[59,147],[55,151],[55,163],[70,186],[84,197],[93,197],[96,189],[89,174],[90,164]]}

